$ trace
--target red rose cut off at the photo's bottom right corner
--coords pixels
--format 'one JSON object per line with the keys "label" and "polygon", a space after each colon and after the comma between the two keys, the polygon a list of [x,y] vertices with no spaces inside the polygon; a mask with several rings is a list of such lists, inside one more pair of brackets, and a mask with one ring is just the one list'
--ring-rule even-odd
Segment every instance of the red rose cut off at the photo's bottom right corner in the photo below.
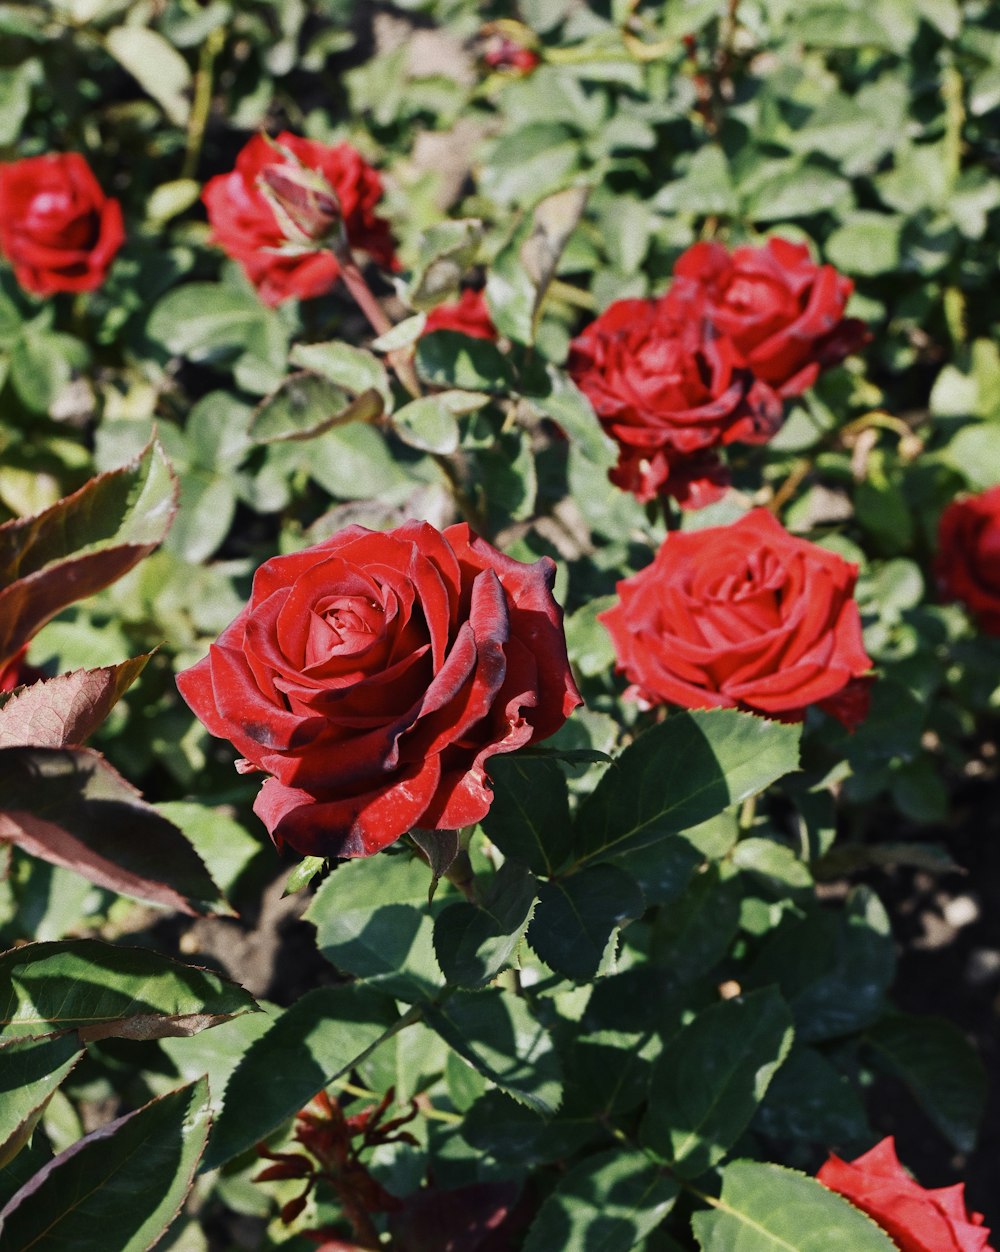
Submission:
{"label": "red rose cut off at the photo's bottom right corner", "polygon": [[877,1222],[901,1252],[991,1252],[981,1213],[965,1208],[965,1187],[929,1191],[906,1173],[890,1136],[856,1161],[830,1159],[816,1174]]}

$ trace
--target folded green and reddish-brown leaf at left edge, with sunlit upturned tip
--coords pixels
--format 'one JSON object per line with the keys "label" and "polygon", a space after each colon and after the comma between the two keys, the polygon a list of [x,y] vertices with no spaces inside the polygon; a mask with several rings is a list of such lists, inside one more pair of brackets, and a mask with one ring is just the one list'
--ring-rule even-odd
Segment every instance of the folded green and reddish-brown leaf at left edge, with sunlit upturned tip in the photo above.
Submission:
{"label": "folded green and reddish-brown leaf at left edge, with sunlit upturned tip", "polygon": [[120,578],[163,540],[178,485],[159,443],[35,517],[0,526],[0,666],[58,612]]}

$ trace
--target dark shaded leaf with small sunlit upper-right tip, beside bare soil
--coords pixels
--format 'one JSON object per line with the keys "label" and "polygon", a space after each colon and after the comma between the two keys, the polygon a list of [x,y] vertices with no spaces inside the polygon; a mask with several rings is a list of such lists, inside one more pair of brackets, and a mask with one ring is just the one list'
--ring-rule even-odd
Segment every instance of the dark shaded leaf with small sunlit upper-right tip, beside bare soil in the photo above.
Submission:
{"label": "dark shaded leaf with small sunlit upper-right tip, beside bare soil", "polygon": [[815,908],[788,918],[770,935],[747,972],[746,987],[776,984],[804,1043],[835,1039],[881,1014],[895,955],[889,918],[866,886],[842,913]]}

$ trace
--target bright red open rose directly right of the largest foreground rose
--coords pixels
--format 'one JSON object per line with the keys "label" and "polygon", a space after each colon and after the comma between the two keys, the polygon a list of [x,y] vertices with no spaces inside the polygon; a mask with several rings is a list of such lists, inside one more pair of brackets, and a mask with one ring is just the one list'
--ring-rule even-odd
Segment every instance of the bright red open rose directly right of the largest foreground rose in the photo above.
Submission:
{"label": "bright red open rose directly right of the largest foreground rose", "polygon": [[630,695],[685,709],[747,709],[801,721],[819,704],[864,719],[871,669],[854,601],[857,568],[793,538],[766,510],[667,535],[653,563],[599,613]]}

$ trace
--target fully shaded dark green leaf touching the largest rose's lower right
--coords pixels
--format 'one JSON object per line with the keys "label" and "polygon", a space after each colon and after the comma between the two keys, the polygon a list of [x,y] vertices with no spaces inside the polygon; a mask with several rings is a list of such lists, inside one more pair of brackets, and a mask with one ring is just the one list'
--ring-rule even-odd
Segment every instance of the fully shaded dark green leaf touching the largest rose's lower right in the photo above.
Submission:
{"label": "fully shaded dark green leaf touching the largest rose's lower right", "polygon": [[504,856],[554,874],[573,848],[566,775],[542,757],[494,756],[493,804],[482,826]]}

